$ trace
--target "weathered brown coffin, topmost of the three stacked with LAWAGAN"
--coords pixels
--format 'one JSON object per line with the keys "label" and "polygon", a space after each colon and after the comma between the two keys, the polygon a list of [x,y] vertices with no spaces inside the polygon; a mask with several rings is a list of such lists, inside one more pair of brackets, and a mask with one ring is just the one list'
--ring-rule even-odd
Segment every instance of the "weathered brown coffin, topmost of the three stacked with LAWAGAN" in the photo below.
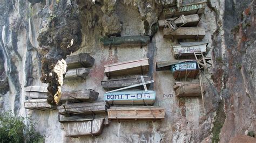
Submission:
{"label": "weathered brown coffin, topmost of the three stacked with LAWAGAN", "polygon": [[97,101],[99,93],[92,90],[79,90],[79,91],[65,91],[62,92],[60,102],[65,103],[66,101],[77,103],[86,101]]}

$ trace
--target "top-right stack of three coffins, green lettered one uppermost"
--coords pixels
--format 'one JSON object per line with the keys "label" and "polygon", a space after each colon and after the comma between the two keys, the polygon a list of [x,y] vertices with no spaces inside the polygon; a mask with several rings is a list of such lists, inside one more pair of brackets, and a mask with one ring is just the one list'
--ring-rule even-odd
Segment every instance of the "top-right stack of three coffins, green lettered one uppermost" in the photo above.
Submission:
{"label": "top-right stack of three coffins, green lettered one uppermost", "polygon": [[164,38],[174,39],[203,39],[205,28],[197,27],[199,15],[204,12],[206,2],[181,5],[164,9],[165,19],[159,20],[160,28],[163,28]]}

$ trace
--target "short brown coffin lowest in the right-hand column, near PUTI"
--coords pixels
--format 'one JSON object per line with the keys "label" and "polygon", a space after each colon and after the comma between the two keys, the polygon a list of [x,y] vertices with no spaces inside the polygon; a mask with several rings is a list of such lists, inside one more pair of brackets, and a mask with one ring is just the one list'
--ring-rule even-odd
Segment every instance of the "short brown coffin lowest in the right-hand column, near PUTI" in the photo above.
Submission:
{"label": "short brown coffin lowest in the right-hand column, near PUTI", "polygon": [[[203,93],[205,94],[207,85],[203,84]],[[201,87],[199,82],[175,82],[173,86],[176,96],[201,96]]]}

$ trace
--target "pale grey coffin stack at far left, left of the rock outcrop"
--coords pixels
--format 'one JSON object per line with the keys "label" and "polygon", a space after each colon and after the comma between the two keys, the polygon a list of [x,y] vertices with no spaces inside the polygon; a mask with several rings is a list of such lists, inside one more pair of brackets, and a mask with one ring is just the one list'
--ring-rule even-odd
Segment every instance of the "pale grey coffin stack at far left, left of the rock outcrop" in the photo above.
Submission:
{"label": "pale grey coffin stack at far left, left of the rock outcrop", "polygon": [[31,110],[56,110],[57,106],[52,106],[46,102],[47,87],[30,86],[25,88],[26,97],[29,98],[24,102],[25,109]]}

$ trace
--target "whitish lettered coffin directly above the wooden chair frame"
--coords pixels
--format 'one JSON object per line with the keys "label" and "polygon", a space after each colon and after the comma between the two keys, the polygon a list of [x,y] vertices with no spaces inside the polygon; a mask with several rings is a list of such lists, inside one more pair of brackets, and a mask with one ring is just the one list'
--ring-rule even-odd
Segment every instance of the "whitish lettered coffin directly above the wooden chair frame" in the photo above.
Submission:
{"label": "whitish lettered coffin directly above the wooden chair frame", "polygon": [[179,45],[173,46],[174,57],[194,55],[193,52],[206,52],[208,42],[180,42]]}

